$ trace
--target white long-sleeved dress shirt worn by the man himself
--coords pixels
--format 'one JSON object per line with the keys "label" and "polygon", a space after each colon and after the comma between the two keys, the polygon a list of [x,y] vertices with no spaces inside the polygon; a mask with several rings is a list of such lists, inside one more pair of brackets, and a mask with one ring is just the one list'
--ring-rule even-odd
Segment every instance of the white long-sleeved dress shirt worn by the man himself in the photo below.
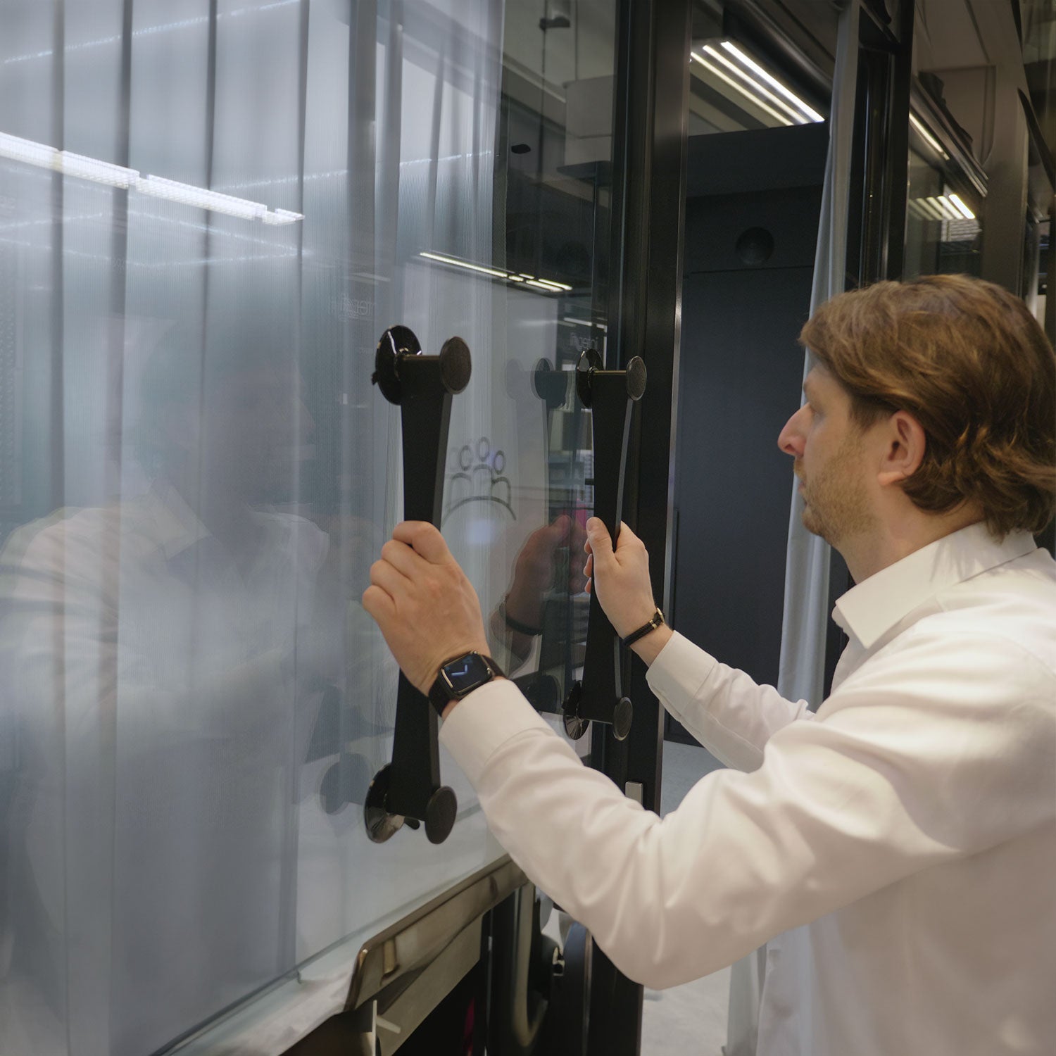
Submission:
{"label": "white long-sleeved dress shirt worn by the man himself", "polygon": [[441,740],[501,843],[653,987],[768,949],[759,1056],[1056,1046],[1056,563],[974,525],[844,595],[816,715],[675,635],[649,670],[729,770],[662,821],[509,682]]}

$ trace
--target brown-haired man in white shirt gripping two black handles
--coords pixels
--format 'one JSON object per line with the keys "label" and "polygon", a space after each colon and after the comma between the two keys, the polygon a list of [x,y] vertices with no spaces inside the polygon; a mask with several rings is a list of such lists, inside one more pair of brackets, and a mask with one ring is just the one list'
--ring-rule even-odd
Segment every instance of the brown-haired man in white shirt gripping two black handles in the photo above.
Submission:
{"label": "brown-haired man in white shirt gripping two black handles", "polygon": [[[1030,533],[1056,497],[1056,358],[1020,301],[964,277],[837,297],[803,339],[807,403],[779,445],[857,582],[816,715],[660,625],[634,645],[649,683],[731,767],[662,822],[501,678],[434,692],[441,739],[514,860],[631,978],[670,986],[786,932],[760,1056],[1048,1052],[1056,563]],[[645,550],[588,530],[631,636],[655,614]],[[428,525],[397,527],[363,601],[423,691],[485,648]]]}

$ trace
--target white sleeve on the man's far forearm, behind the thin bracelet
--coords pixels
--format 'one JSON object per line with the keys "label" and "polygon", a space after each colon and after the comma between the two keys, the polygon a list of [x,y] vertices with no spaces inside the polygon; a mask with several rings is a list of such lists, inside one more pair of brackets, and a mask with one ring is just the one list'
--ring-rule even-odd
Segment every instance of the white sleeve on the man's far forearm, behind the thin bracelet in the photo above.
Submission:
{"label": "white sleeve on the man's far forearm, behind the thin bracelet", "polygon": [[736,770],[761,766],[774,733],[795,719],[813,717],[807,701],[793,703],[773,686],[756,684],[677,631],[646,679],[664,708],[712,755]]}

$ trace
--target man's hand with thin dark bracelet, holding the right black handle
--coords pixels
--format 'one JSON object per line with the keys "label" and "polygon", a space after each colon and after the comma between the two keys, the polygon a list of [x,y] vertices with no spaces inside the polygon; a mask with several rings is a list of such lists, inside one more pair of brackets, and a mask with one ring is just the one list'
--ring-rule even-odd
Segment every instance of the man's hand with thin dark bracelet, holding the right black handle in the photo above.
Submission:
{"label": "man's hand with thin dark bracelet, holding the right black handle", "polygon": [[590,555],[583,569],[585,576],[591,577],[587,589],[597,591],[616,633],[626,638],[656,611],[645,545],[623,525],[614,553],[608,529],[599,517],[591,517],[587,521],[587,542],[583,549]]}

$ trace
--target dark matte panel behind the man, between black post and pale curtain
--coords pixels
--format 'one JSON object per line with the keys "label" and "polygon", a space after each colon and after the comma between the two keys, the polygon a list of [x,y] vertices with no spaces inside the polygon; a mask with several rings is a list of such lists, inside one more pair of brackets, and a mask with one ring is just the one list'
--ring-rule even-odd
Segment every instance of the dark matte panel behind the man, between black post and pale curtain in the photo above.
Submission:
{"label": "dark matte panel behind the man, between black post and pale curtain", "polygon": [[[769,684],[780,659],[793,480],[777,436],[800,402],[796,338],[810,314],[827,142],[819,129],[710,136],[691,155],[715,186],[730,183],[716,173],[748,172],[746,158],[768,161],[752,180],[757,189],[686,205],[672,619]],[[766,173],[772,186],[759,189]],[[673,720],[667,735],[691,739]]]}

